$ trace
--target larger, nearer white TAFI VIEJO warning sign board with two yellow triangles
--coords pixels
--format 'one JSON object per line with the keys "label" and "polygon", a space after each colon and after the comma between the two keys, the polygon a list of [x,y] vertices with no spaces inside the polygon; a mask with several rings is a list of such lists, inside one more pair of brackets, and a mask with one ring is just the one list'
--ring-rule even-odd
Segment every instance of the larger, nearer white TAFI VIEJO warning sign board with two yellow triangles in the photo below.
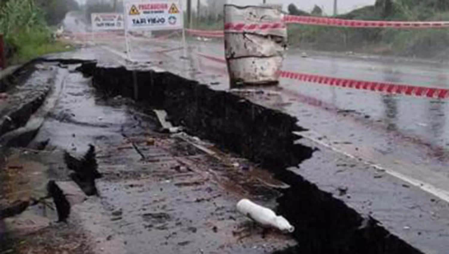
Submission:
{"label": "larger, nearer white TAFI VIEJO warning sign board with two yellow triangles", "polygon": [[179,1],[128,3],[125,12],[129,30],[170,30],[184,27]]}

